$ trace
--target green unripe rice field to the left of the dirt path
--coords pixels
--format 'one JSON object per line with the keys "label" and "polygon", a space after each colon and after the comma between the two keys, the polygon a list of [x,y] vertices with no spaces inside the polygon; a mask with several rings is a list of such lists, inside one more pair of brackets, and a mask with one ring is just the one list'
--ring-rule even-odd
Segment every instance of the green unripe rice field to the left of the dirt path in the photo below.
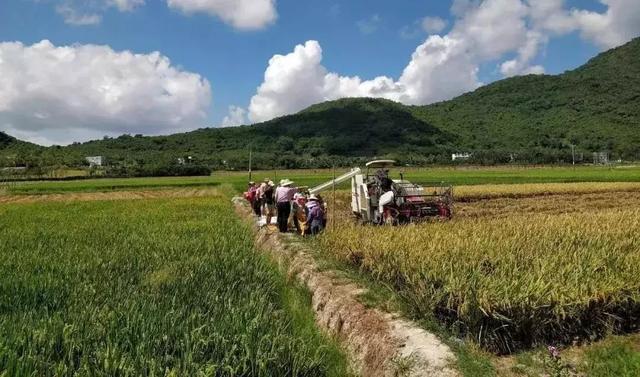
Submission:
{"label": "green unripe rice field to the left of the dirt path", "polygon": [[226,196],[0,207],[0,375],[343,376]]}

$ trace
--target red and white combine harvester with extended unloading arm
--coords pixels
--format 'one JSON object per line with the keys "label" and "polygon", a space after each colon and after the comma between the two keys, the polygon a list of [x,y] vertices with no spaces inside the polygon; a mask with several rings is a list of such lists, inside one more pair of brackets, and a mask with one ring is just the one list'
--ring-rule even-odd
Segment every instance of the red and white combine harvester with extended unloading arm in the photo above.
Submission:
{"label": "red and white combine harvester with extended unloading arm", "polygon": [[[362,224],[401,225],[430,218],[450,219],[453,187],[440,183],[422,186],[389,177],[393,160],[376,160],[366,164],[366,172],[350,172],[309,190],[318,194],[351,179],[351,209]],[[372,172],[373,170],[373,172]]]}

